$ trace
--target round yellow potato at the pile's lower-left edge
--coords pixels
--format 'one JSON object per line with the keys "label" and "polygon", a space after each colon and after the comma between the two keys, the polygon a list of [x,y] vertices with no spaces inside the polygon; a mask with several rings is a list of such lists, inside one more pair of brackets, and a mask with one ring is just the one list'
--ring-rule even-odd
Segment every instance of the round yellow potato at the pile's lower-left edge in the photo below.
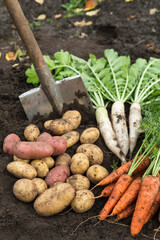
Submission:
{"label": "round yellow potato at the pile's lower-left edge", "polygon": [[13,186],[14,196],[22,202],[32,202],[38,192],[35,183],[30,179],[19,179]]}

